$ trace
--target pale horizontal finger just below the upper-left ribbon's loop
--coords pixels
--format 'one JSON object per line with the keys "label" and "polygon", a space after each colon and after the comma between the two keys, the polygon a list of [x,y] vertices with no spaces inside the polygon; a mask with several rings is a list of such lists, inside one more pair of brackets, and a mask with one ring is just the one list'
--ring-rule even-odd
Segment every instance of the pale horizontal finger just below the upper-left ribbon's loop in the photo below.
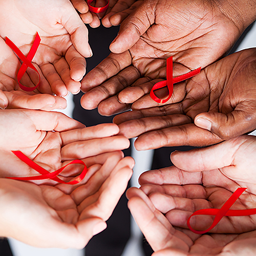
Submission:
{"label": "pale horizontal finger just below the upper-left ribbon's loop", "polygon": [[26,95],[22,92],[5,92],[8,98],[8,109],[54,110],[66,109],[67,101],[59,96],[49,94]]}

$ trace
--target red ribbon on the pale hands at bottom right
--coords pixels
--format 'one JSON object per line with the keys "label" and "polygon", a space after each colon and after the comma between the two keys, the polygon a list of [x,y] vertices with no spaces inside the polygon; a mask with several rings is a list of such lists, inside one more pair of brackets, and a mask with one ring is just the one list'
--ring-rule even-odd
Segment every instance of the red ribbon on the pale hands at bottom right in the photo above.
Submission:
{"label": "red ribbon on the pale hands at bottom right", "polygon": [[[234,193],[231,195],[231,197],[226,201],[225,204],[223,204],[223,206],[220,209],[201,209],[201,210],[195,211],[194,214],[191,214],[187,220],[188,228],[196,234],[204,234],[204,233],[209,232],[212,228],[214,228],[224,216],[248,216],[248,215],[256,214],[256,208],[244,209],[244,210],[229,210],[230,207],[243,194],[245,189],[246,188],[244,188],[244,187],[239,187],[236,191],[234,191]],[[212,222],[211,226],[209,228],[207,228],[206,230],[203,230],[203,231],[195,230],[190,226],[189,222],[190,222],[191,217],[196,216],[196,215],[215,216],[214,222]]]}

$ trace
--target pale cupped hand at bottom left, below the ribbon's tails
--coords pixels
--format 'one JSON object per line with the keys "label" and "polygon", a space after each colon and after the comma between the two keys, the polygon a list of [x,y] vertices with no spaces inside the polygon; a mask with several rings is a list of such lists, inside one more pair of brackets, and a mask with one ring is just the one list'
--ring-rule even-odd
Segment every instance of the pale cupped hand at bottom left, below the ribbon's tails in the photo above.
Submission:
{"label": "pale cupped hand at bottom left, below the ribbon's tails", "polygon": [[77,185],[0,179],[1,236],[36,247],[83,248],[106,228],[132,175],[132,158],[114,154]]}

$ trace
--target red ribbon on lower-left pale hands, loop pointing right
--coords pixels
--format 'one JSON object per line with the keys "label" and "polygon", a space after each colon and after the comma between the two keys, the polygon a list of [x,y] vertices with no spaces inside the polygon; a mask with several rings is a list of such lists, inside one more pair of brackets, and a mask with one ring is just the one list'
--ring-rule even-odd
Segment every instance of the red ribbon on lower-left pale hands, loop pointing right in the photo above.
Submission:
{"label": "red ribbon on lower-left pale hands, loop pointing right", "polygon": [[[65,165],[65,166],[55,170],[55,172],[50,173],[45,168],[42,168],[40,165],[38,165],[35,162],[33,162],[31,159],[29,159],[27,156],[25,156],[22,152],[20,152],[20,151],[12,151],[12,153],[16,157],[18,157],[20,160],[25,162],[29,167],[33,168],[34,170],[36,170],[36,172],[41,174],[39,176],[31,176],[31,177],[6,177],[6,178],[12,179],[12,180],[45,180],[45,179],[51,179],[51,180],[57,181],[57,182],[62,183],[62,184],[75,185],[75,184],[77,184],[77,183],[79,183],[79,182],[81,182],[83,180],[83,178],[86,176],[87,171],[88,171],[86,164],[83,161],[77,159],[77,160],[73,160],[69,164],[67,164],[67,165]],[[75,180],[72,180],[72,181],[69,181],[69,182],[65,182],[65,181],[59,179],[57,176],[68,165],[71,165],[71,164],[82,164],[84,167],[83,167],[83,170],[82,170],[81,174]]]}

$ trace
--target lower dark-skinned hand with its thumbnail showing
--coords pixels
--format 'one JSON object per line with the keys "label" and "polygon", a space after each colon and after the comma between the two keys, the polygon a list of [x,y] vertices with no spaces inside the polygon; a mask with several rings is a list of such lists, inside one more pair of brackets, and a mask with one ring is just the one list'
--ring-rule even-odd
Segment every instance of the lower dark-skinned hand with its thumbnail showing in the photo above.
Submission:
{"label": "lower dark-skinned hand with its thumbnail showing", "polygon": [[256,128],[255,61],[255,48],[229,55],[176,84],[166,104],[147,95],[114,122],[121,135],[139,136],[137,150],[204,146],[248,133]]}

